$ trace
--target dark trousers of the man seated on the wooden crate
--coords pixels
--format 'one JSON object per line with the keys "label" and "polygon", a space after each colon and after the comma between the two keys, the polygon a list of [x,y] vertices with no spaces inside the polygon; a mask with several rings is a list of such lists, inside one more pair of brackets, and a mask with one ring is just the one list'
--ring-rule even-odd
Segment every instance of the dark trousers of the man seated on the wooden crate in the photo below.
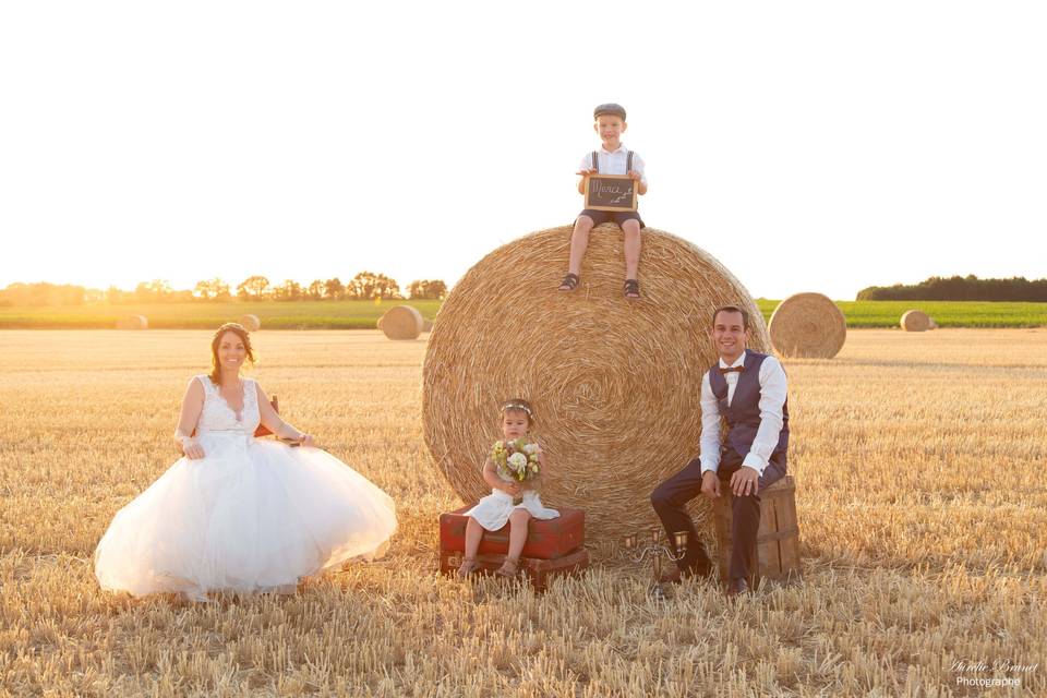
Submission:
{"label": "dark trousers of the man seated on the wooden crate", "polygon": [[[731,476],[742,467],[742,456],[734,448],[725,448],[721,454],[717,476],[720,478],[720,496],[731,488]],[[735,496],[732,498],[731,518],[731,579],[744,577],[748,579],[754,568],[756,555],[756,537],[760,528],[760,495],[763,488],[785,477],[785,453],[775,452],[760,476],[757,494]],[[698,537],[694,521],[687,514],[687,503],[701,495],[701,462],[695,458],[684,469],[658,485],[651,493],[651,506],[662,526],[669,533],[670,544],[675,549],[673,534],[687,533],[687,552],[683,559],[676,563],[685,575],[707,575],[712,570],[712,563]],[[726,581],[726,580],[724,580]]]}

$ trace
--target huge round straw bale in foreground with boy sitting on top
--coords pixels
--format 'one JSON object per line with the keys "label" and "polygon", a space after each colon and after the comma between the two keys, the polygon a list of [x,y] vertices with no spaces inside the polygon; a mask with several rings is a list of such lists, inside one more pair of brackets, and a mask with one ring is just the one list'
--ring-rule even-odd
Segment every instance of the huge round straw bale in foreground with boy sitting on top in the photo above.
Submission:
{"label": "huge round straw bale in foreground with boy sitting on top", "polygon": [[[502,435],[498,408],[522,397],[549,458],[549,506],[586,510],[588,537],[615,540],[657,524],[651,491],[698,453],[700,383],[717,361],[712,312],[750,315],[749,346],[767,327],[748,291],[710,254],[648,228],[642,299],[623,297],[623,236],[593,231],[574,292],[556,290],[570,227],[498,248],[444,301],[422,369],[422,423],[437,467],[466,502],[490,493],[481,464]],[[711,537],[710,508],[694,502]]]}

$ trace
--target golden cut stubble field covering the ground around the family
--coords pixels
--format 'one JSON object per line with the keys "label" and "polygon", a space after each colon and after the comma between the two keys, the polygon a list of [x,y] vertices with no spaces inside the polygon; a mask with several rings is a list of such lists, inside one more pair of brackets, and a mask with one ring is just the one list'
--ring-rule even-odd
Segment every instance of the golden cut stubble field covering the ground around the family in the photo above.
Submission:
{"label": "golden cut stubble field covering the ground around the family", "polygon": [[390,554],[291,597],[103,593],[94,546],[174,461],[208,339],[0,332],[0,695],[1047,693],[1045,329],[855,330],[786,362],[805,577],[737,603],[653,601],[610,559],[543,595],[436,577],[460,503],[422,442],[424,340],[258,333],[289,421],[397,502]]}

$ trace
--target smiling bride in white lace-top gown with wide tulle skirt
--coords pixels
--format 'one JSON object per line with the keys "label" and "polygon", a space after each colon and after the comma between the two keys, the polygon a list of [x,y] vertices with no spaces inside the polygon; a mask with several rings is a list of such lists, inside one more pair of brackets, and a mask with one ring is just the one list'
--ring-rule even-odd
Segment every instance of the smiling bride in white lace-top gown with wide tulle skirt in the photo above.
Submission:
{"label": "smiling bride in white lace-top gown with wide tulle skirt", "polygon": [[[248,330],[222,325],[214,370],[194,376],[174,442],[184,457],[120,509],[95,551],[104,589],[134,595],[293,591],[302,577],[382,555],[396,530],[393,501],[313,437],[285,422],[262,387]],[[292,448],[254,438],[258,423]]]}

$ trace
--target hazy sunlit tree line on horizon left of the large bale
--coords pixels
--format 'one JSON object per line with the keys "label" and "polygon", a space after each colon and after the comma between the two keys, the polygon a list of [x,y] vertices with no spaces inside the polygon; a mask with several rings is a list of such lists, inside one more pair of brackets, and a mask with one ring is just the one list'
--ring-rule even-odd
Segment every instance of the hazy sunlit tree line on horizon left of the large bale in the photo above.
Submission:
{"label": "hazy sunlit tree line on horizon left of the large bale", "polygon": [[442,300],[447,285],[440,279],[411,281],[407,294],[384,274],[361,272],[342,284],[338,277],[315,279],[308,285],[286,280],[273,285],[268,278],[253,275],[236,287],[220,278],[198,281],[192,289],[173,289],[163,279],[142,281],[133,291],[115,286],[89,289],[71,284],[11,284],[0,290],[0,305],[83,305],[85,303],[173,303],[239,301],[326,301],[326,300]]}

